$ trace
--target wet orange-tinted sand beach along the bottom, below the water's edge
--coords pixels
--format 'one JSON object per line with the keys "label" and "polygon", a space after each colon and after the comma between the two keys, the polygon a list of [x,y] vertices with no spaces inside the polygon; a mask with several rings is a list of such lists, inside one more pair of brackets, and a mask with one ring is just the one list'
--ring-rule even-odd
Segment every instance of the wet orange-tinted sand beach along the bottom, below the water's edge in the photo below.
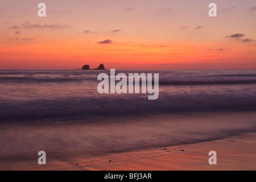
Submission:
{"label": "wet orange-tinted sand beach along the bottom, below the water's edge", "polygon": [[[209,151],[217,152],[216,165],[208,163]],[[104,156],[48,155],[47,165],[17,156],[2,160],[0,170],[256,170],[256,134]]]}

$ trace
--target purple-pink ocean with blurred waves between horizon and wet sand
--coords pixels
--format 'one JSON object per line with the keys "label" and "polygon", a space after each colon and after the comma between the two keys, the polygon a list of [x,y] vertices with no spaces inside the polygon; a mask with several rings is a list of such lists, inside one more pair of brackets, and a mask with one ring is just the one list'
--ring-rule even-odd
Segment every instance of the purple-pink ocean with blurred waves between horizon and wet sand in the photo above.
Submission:
{"label": "purple-pink ocean with blurred waves between horizon and wet sand", "polygon": [[[96,70],[0,70],[0,160],[109,152],[256,132],[256,71],[159,73],[159,97],[99,94]],[[32,157],[33,156],[33,157]]]}

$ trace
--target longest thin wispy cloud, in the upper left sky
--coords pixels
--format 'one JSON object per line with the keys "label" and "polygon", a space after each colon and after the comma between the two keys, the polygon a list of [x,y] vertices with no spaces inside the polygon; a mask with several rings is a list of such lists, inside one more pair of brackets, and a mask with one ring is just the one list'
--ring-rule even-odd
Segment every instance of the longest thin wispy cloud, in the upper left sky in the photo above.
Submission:
{"label": "longest thin wispy cloud, in the upper left sky", "polygon": [[13,29],[34,29],[34,28],[67,28],[67,27],[71,27],[68,24],[40,24],[40,23],[36,23],[36,24],[32,24],[30,22],[24,22],[22,24],[18,24],[18,25],[14,25],[11,26],[10,28]]}

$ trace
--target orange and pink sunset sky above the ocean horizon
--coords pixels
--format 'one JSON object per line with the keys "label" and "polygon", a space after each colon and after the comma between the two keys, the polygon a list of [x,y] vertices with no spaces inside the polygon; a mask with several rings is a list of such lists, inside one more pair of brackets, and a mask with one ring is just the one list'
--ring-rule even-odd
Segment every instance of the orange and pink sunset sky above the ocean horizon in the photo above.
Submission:
{"label": "orange and pink sunset sky above the ocean horizon", "polygon": [[256,69],[255,0],[2,0],[0,17],[0,69]]}

